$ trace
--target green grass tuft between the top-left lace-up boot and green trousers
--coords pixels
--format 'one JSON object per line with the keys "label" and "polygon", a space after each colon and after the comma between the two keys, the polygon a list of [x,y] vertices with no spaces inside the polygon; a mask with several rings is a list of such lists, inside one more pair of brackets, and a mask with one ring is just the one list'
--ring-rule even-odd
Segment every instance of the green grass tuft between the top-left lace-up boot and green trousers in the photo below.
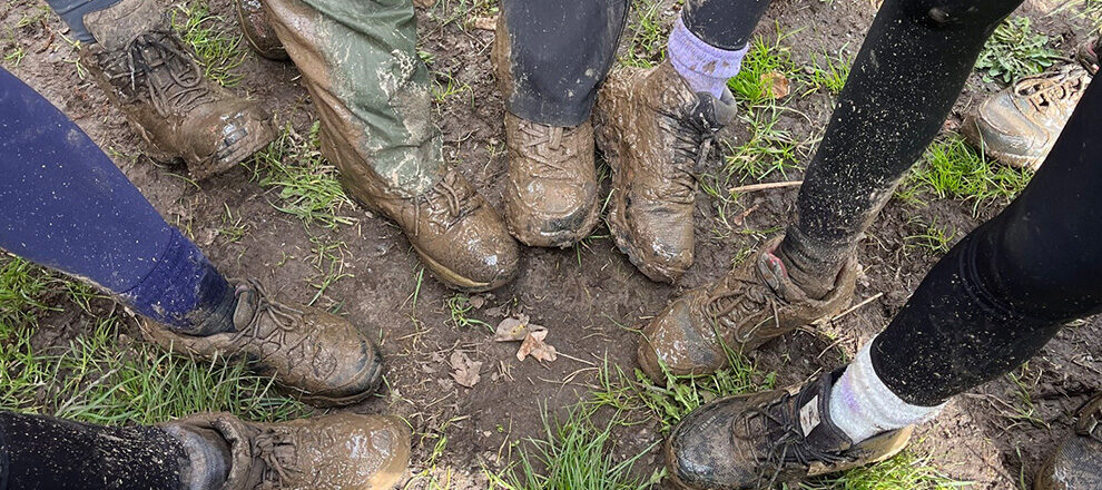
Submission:
{"label": "green grass tuft between the top-left lace-up boot and green trousers", "polygon": [[207,0],[177,4],[170,12],[173,30],[195,51],[203,75],[223,87],[233,87],[245,78],[238,68],[248,50],[242,45],[236,23],[210,13]]}

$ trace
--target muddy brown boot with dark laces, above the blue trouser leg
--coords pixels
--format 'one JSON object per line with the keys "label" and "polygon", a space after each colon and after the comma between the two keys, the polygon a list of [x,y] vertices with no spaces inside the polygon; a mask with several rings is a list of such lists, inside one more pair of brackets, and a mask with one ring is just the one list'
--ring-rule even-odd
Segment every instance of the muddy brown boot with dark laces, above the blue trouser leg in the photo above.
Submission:
{"label": "muddy brown boot with dark laces, above the blue trouser leg", "polygon": [[122,0],[85,24],[98,42],[82,62],[155,158],[180,157],[201,180],[275,139],[272,116],[204,77],[155,2]]}

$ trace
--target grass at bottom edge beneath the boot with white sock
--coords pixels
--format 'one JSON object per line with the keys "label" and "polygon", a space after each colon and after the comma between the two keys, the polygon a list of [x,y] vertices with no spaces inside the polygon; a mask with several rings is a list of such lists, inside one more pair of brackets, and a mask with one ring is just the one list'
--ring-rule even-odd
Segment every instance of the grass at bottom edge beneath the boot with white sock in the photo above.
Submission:
{"label": "grass at bottom edge beneath the boot with white sock", "polygon": [[970,487],[943,476],[929,457],[903,451],[887,461],[800,484],[803,490],[951,490]]}

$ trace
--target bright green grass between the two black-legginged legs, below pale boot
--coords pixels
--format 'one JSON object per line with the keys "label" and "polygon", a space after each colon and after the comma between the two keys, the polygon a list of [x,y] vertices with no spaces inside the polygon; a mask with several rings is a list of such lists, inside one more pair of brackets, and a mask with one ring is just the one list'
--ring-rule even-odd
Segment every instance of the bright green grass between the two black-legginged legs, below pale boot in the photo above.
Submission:
{"label": "bright green grass between the two black-legginged legs, below pale boot", "polygon": [[980,205],[995,198],[1013,198],[1026,184],[1030,170],[994,165],[960,136],[935,140],[926,149],[923,160],[905,178],[896,196],[911,203],[921,203],[921,193],[932,193],[938,198],[972,200],[973,213]]}

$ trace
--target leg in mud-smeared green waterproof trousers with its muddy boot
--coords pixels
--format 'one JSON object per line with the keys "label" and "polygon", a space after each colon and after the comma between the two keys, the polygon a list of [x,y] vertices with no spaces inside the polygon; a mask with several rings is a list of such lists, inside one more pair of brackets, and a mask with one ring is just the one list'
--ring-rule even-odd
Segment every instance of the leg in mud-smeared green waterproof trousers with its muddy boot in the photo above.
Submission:
{"label": "leg in mud-smeared green waterproof trousers with its muddy boot", "polygon": [[321,119],[321,146],[348,195],[393,219],[452,287],[516,274],[496,212],[444,161],[417,58],[412,0],[264,0]]}

